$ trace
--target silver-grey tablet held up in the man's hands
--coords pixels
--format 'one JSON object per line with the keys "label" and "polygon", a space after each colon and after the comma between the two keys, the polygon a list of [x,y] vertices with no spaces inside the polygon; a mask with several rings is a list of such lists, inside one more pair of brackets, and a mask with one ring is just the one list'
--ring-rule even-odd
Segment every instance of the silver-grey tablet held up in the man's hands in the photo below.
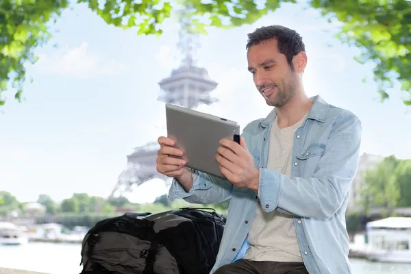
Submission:
{"label": "silver-grey tablet held up in the man's hands", "polygon": [[166,103],[167,136],[183,151],[186,166],[225,179],[216,161],[220,140],[240,143],[240,125],[218,116]]}

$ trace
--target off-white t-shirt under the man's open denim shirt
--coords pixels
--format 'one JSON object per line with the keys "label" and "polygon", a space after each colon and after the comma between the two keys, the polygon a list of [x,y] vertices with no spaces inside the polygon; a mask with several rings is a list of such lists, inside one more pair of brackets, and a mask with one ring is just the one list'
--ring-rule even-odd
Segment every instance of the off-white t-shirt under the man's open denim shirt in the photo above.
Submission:
{"label": "off-white t-shirt under the man's open denim shirt", "polygon": [[[283,129],[278,127],[275,119],[270,132],[267,169],[291,177],[294,134],[305,118],[304,116],[299,122]],[[264,212],[260,203],[251,223],[248,241],[250,247],[245,259],[275,262],[303,261],[295,234],[293,216],[275,210]]]}

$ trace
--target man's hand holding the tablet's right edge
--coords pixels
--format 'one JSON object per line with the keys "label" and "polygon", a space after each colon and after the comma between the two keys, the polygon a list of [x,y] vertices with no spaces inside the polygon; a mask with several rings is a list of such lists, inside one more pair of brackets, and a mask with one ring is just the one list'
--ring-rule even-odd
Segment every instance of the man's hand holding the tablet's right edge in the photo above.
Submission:
{"label": "man's hand holding the tablet's right edge", "polygon": [[254,164],[253,155],[247,149],[244,138],[240,138],[240,145],[228,139],[221,140],[220,145],[216,160],[221,173],[234,186],[258,192],[260,170]]}

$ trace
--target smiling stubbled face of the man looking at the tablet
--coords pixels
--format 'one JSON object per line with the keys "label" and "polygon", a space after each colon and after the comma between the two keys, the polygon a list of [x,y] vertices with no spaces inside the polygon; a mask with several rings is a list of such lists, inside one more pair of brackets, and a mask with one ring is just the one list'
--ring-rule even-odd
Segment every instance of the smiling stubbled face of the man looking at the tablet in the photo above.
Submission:
{"label": "smiling stubbled face of the man looking at the tablet", "polygon": [[268,105],[282,108],[295,94],[297,73],[291,71],[286,55],[279,53],[277,39],[249,47],[248,69]]}

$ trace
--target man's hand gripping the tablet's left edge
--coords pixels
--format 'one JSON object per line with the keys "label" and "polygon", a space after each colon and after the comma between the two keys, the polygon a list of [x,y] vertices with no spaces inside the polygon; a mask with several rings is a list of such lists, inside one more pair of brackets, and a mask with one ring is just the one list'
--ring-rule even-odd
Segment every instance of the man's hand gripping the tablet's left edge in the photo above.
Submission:
{"label": "man's hand gripping the tablet's left edge", "polygon": [[160,149],[157,151],[157,171],[168,177],[175,177],[186,189],[190,191],[192,187],[192,173],[186,167],[186,161],[170,156],[182,156],[183,151],[173,147],[174,140],[168,137],[158,138]]}

